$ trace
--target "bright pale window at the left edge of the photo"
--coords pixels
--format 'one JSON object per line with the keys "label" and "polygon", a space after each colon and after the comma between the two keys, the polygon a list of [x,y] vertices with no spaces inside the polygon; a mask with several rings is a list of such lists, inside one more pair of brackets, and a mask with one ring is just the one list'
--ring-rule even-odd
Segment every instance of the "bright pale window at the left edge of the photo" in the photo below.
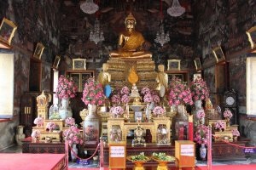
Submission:
{"label": "bright pale window at the left edge of the photo", "polygon": [[15,54],[0,54],[0,118],[12,118],[14,113]]}

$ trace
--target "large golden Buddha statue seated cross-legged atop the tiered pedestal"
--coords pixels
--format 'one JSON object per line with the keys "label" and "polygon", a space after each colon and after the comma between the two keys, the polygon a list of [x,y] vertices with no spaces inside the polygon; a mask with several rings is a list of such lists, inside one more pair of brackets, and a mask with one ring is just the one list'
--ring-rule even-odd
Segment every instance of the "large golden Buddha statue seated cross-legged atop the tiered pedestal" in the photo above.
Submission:
{"label": "large golden Buddha statue seated cross-legged atop the tiered pedestal", "polygon": [[143,49],[142,33],[135,31],[136,20],[132,14],[125,18],[125,31],[119,34],[118,50],[110,52],[110,58],[150,59],[152,54]]}

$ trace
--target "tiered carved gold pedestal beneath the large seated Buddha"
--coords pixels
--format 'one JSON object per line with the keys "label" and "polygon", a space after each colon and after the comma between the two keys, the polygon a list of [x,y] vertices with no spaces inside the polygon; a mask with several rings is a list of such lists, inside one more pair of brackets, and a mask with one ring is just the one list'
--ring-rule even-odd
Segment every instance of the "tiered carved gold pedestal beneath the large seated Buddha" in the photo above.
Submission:
{"label": "tiered carved gold pedestal beneath the large seated Buddha", "polygon": [[126,79],[131,66],[134,66],[139,77],[139,81],[136,83],[138,89],[156,87],[156,72],[154,71],[155,65],[152,59],[109,59],[108,65],[108,72],[111,74],[111,87],[131,87],[131,83]]}

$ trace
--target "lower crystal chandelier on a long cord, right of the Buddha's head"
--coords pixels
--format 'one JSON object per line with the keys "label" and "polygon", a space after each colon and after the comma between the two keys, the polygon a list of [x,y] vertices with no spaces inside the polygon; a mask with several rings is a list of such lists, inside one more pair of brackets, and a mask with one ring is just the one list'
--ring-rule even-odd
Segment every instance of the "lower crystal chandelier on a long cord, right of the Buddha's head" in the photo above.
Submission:
{"label": "lower crystal chandelier on a long cord, right of the Buddha's head", "polygon": [[160,0],[160,30],[156,33],[156,38],[154,42],[160,43],[163,46],[166,42],[170,41],[169,32],[165,33],[163,24],[163,14],[162,14],[162,0]]}

